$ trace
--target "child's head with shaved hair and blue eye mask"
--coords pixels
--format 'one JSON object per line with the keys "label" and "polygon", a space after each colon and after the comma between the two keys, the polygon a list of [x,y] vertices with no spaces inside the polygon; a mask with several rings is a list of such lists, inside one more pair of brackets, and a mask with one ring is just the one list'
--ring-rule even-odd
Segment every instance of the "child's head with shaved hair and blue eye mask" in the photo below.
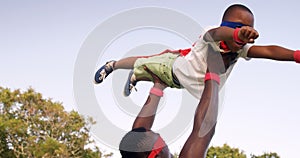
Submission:
{"label": "child's head with shaved hair and blue eye mask", "polygon": [[[222,18],[221,26],[228,26],[233,29],[242,26],[254,26],[254,15],[249,8],[241,4],[234,4],[229,6]],[[225,41],[226,45],[233,52],[242,48],[241,45],[236,44],[234,40]]]}

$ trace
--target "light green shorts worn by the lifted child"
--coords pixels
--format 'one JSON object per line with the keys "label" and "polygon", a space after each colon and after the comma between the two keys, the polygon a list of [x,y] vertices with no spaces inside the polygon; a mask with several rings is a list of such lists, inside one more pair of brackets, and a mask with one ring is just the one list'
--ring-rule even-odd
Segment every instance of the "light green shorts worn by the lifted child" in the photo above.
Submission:
{"label": "light green shorts worn by the lifted child", "polygon": [[151,72],[157,75],[163,82],[171,88],[182,88],[174,82],[172,67],[178,54],[164,53],[147,58],[139,58],[134,63],[134,75],[136,78],[147,78],[153,81],[152,76],[144,69],[146,66]]}

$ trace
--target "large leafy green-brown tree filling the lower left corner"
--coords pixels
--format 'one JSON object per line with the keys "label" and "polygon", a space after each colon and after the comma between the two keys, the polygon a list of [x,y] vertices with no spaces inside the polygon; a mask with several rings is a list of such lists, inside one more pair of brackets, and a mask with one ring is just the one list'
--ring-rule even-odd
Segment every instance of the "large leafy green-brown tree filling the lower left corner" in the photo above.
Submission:
{"label": "large leafy green-brown tree filling the lower left corner", "polygon": [[102,155],[90,138],[94,123],[32,88],[21,92],[0,87],[0,157],[110,156]]}

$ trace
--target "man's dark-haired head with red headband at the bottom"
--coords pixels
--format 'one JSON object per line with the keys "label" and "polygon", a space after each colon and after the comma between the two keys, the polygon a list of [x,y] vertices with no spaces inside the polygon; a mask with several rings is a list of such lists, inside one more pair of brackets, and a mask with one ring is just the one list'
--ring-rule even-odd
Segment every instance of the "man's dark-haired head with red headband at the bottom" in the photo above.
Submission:
{"label": "man's dark-haired head with red headband at the bottom", "polygon": [[159,134],[137,128],[121,140],[119,150],[123,158],[171,158],[168,146]]}

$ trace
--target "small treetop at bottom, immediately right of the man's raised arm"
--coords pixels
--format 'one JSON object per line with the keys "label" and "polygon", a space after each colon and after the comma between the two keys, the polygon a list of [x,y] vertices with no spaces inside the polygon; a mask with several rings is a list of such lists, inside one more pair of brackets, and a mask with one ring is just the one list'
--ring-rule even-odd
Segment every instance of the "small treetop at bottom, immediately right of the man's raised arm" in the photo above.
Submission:
{"label": "small treetop at bottom, immediately right of the man's raised arm", "polygon": [[247,158],[243,151],[238,148],[231,148],[224,144],[222,147],[210,147],[207,151],[207,158]]}

